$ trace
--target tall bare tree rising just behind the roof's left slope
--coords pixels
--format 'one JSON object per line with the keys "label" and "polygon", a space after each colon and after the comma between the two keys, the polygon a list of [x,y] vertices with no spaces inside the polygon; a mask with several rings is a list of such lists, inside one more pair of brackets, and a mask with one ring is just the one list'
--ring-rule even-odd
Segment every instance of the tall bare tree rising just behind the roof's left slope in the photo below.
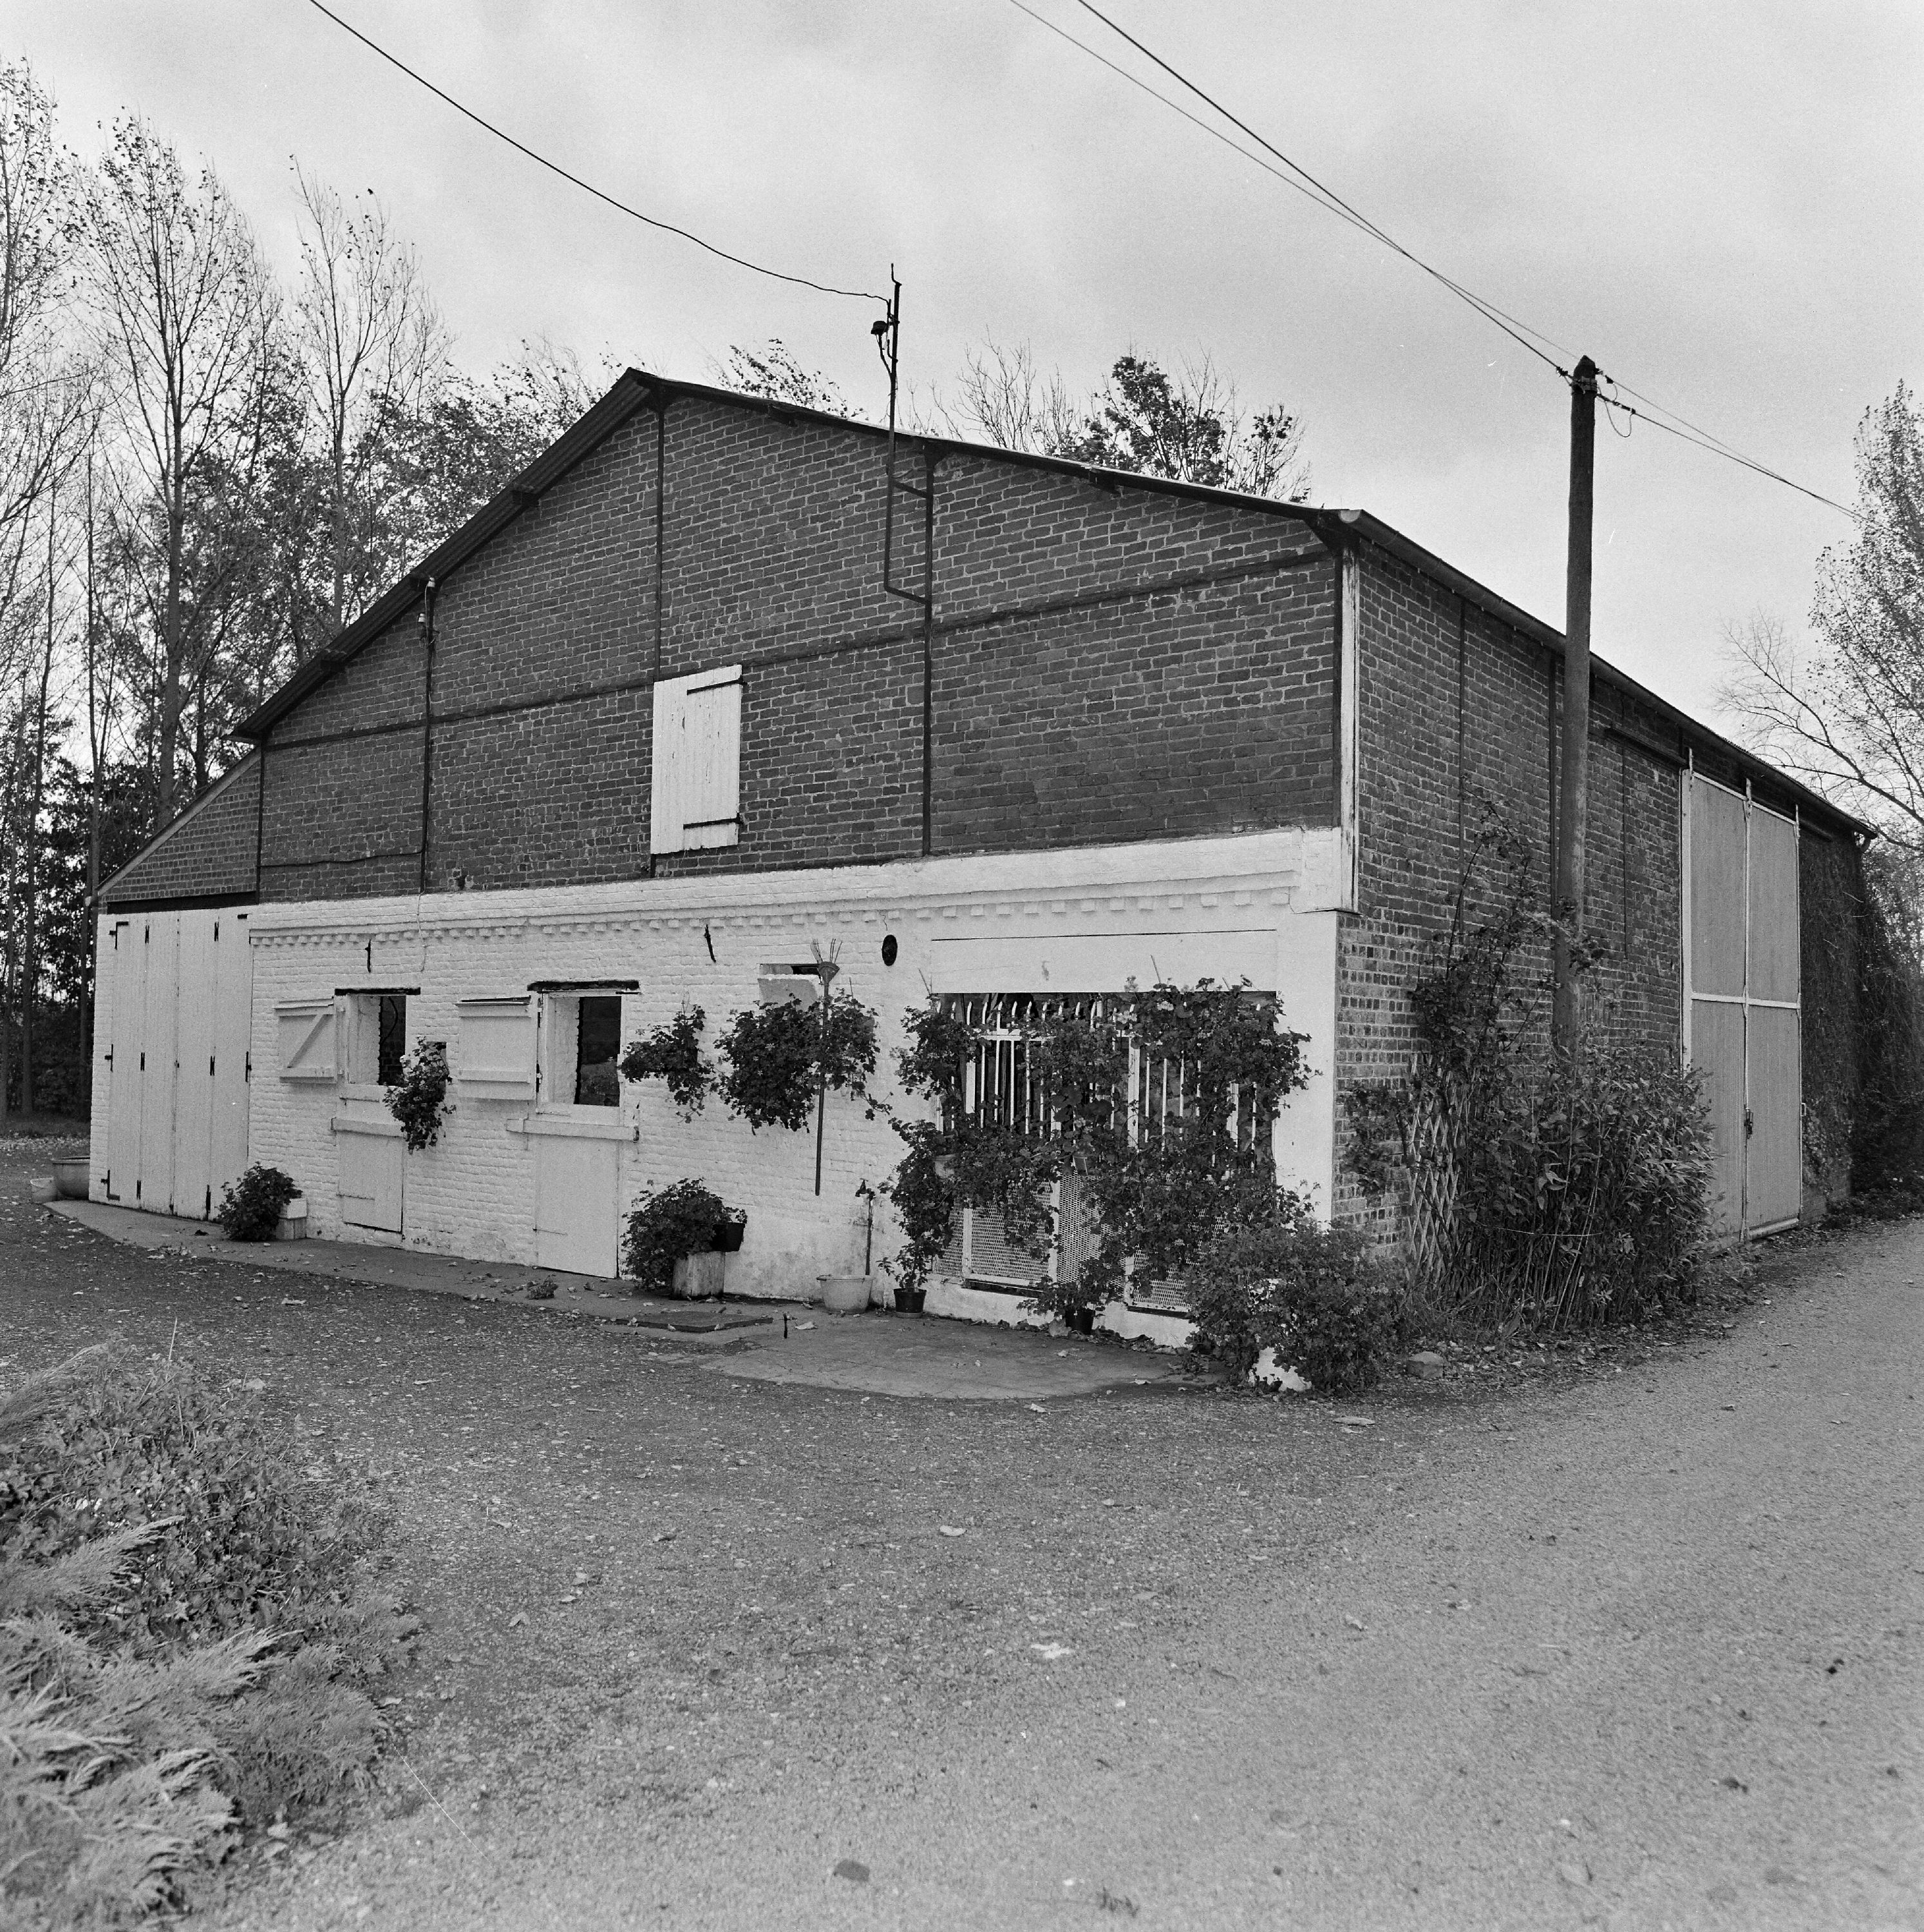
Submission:
{"label": "tall bare tree rising just behind the roof's left slope", "polygon": [[400,566],[384,537],[388,444],[439,383],[448,336],[413,249],[373,193],[344,203],[294,170],[301,274],[294,327],[321,437],[328,628],[342,630]]}

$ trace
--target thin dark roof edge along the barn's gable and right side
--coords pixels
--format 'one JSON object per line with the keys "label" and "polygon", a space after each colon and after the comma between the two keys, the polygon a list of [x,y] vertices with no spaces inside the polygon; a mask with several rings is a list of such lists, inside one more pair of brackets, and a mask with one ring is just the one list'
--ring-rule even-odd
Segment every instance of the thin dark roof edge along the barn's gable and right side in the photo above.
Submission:
{"label": "thin dark roof edge along the barn's gable and right side", "polygon": [[[860,423],[846,415],[831,415],[825,410],[809,410],[802,404],[782,402],[773,396],[750,396],[742,390],[717,388],[709,383],[684,383],[674,377],[653,375],[647,369],[624,369],[614,379],[608,392],[578,423],[574,423],[574,427],[570,427],[562,437],[549,444],[541,456],[522,469],[498,497],[483,504],[481,510],[477,510],[458,531],[454,531],[452,537],[423,556],[421,562],[415,564],[415,568],[392,589],[388,589],[384,597],[369,605],[361,616],[357,616],[332,639],[332,643],[315,651],[315,655],[309,657],[307,663],[303,663],[278,692],[274,692],[265,703],[259,705],[259,709],[243,719],[238,726],[238,736],[251,738],[255,742],[267,738],[274,724],[299,705],[309,692],[334,676],[342,665],[373,643],[373,639],[379,638],[396,618],[406,616],[408,611],[421,601],[429,580],[437,585],[444,583],[454,570],[475,554],[475,551],[491,543],[525,508],[537,502],[543,491],[558,483],[578,462],[607,442],[607,439],[612,437],[614,431],[620,429],[622,423],[626,423],[636,412],[665,410],[678,396],[699,398],[732,410],[750,410],[784,423],[819,423],[827,429],[852,431],[875,440],[887,440],[889,437],[889,431],[875,423]],[[910,448],[927,450],[933,456],[972,456],[987,462],[1014,464],[1024,469],[1043,469],[1055,475],[1076,477],[1103,491],[1144,491],[1147,495],[1176,497],[1188,502],[1225,504],[1258,516],[1288,518],[1314,529],[1331,551],[1341,551],[1358,541],[1372,543],[1408,564],[1412,570],[1418,570],[1420,574],[1445,585],[1445,589],[1462,597],[1485,616],[1495,618],[1499,624],[1505,624],[1520,636],[1532,638],[1557,657],[1563,655],[1563,632],[1553,624],[1545,624],[1542,618],[1532,616],[1509,599],[1499,597],[1487,585],[1478,583],[1476,578],[1457,570],[1453,564],[1443,562],[1441,556],[1426,551],[1420,543],[1404,537],[1402,531],[1393,529],[1368,510],[1337,510],[1302,502],[1281,502],[1275,497],[1250,497],[1242,491],[1215,489],[1207,483],[1178,483],[1169,477],[1140,475],[1134,469],[1105,469],[1097,464],[1074,462],[1066,456],[1039,456],[1030,450],[1004,450],[993,442],[968,442],[958,437],[935,437],[921,431],[898,431],[896,439]],[[1739,773],[1766,777],[1775,790],[1795,798],[1798,806],[1822,813],[1833,825],[1839,825],[1862,838],[1876,837],[1876,829],[1866,825],[1862,819],[1853,817],[1849,811],[1833,806],[1820,792],[1810,790],[1810,786],[1798,782],[1789,773],[1779,771],[1756,753],[1746,752],[1729,738],[1723,738],[1708,724],[1702,724],[1686,711],[1681,711],[1677,705],[1628,676],[1628,672],[1619,670],[1607,659],[1592,655],[1590,663],[1592,674],[1598,682],[1613,686],[1640,707],[1661,717],[1686,744],[1704,748],[1725,765],[1735,767]]]}

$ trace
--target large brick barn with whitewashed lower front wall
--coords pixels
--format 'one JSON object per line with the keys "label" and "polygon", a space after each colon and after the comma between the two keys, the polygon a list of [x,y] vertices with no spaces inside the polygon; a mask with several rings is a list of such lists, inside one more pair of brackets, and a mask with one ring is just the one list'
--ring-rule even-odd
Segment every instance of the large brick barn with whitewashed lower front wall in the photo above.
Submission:
{"label": "large brick barn with whitewashed lower front wall", "polygon": [[[612,1273],[636,1192],[701,1175],[750,1208],[730,1293],[798,1293],[860,1267],[887,1124],[831,1099],[817,1196],[811,1134],[684,1124],[607,1059],[835,945],[885,1092],[927,991],[1275,989],[1314,1068],[1283,1173],[1362,1213],[1341,1095],[1406,1063],[1484,802],[1549,850],[1559,634],[1356,510],[898,462],[885,583],[881,433],[630,371],[303,665],[100,895],[95,1196],[203,1213],[265,1161],[323,1235]],[[1847,1182],[1804,1103],[1847,1119],[1853,1034],[1800,1010],[1854,956],[1798,906],[1864,829],[1603,663],[1592,732],[1613,1024],[1704,1065],[1721,1221],[1777,1225]],[[408,1153],[417,1039],[454,1109]],[[997,1256],[968,1227],[929,1306],[1006,1314]]]}

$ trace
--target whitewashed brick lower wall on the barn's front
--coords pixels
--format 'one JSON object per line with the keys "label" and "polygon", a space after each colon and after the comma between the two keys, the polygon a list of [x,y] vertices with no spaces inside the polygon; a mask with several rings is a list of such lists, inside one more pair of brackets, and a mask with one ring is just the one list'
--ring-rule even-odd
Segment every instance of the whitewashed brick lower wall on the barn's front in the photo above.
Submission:
{"label": "whitewashed brick lower wall on the barn's front", "polygon": [[[900,1020],[929,991],[1118,991],[1126,981],[1246,974],[1283,995],[1310,1036],[1316,1078],[1283,1113],[1283,1175],[1331,1200],[1337,914],[1327,875],[1335,833],[941,858],[904,866],[732,873],[547,891],[429,895],[421,900],[332,900],[259,906],[253,947],[253,1107],[249,1155],[286,1169],[319,1236],[359,1238],[340,1221],[338,1142],[330,1121],[365,1109],[340,1088],[282,1080],[276,1005],[336,989],[419,987],[408,1003],[410,1045],[446,1039],[460,1074],[456,1001],[523,993],[531,981],[637,980],[624,1001],[624,1039],[668,1020],[684,1001],[707,1012],[703,1039],[757,999],[765,962],[800,964],[836,945],[838,995],[881,1022],[877,1095],[902,1105],[892,1078]],[[885,966],[885,935],[898,943]],[[713,952],[713,956],[711,956]],[[440,1142],[406,1157],[408,1246],[533,1262],[531,1142],[508,1130],[525,1097],[452,1090]],[[823,1188],[813,1192],[815,1136],[748,1126],[711,1099],[684,1124],[659,1082],[622,1084],[620,1200],[699,1175],[748,1209],[748,1236],[728,1262],[730,1294],[809,1296],[815,1277],[854,1273],[863,1258],[856,1190],[889,1177],[900,1142],[885,1119],[831,1095]],[[875,1260],[898,1242],[877,1202]],[[974,1308],[976,1291],[937,1285],[931,1308]],[[1003,1306],[1001,1296],[991,1302]],[[1008,1312],[1014,1304],[1008,1302]]]}

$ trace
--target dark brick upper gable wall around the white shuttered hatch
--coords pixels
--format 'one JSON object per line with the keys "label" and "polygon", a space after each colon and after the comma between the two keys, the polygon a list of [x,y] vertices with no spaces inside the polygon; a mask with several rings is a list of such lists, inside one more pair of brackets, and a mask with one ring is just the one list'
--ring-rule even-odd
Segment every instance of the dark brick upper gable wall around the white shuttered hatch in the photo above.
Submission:
{"label": "dark brick upper gable wall around the white shuttered hatch", "polygon": [[[933,473],[935,852],[1331,823],[1335,566],[1298,518],[952,452]],[[885,497],[873,435],[632,415],[440,587],[431,732],[413,616],[276,723],[261,896],[645,875],[653,680],[724,663],[742,842],[655,869],[920,856],[921,614],[881,585]],[[920,587],[921,506],[898,516]]]}

